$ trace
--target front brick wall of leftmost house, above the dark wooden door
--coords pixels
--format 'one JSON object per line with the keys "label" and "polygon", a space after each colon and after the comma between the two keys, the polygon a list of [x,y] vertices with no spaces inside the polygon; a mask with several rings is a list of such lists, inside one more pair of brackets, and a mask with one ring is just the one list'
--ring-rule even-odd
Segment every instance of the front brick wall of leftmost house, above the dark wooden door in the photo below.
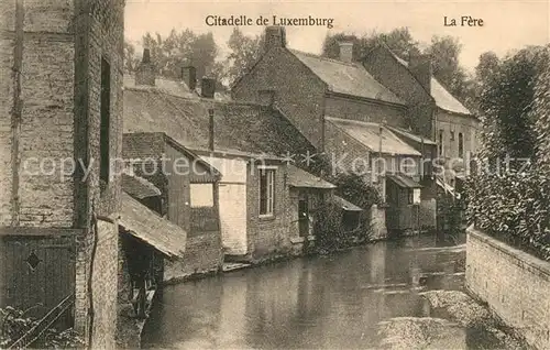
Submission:
{"label": "front brick wall of leftmost house, above the dark wooden door", "polygon": [[70,227],[73,183],[59,164],[74,153],[73,2],[21,2],[16,11],[3,1],[0,12],[9,31],[0,39],[0,226]]}

